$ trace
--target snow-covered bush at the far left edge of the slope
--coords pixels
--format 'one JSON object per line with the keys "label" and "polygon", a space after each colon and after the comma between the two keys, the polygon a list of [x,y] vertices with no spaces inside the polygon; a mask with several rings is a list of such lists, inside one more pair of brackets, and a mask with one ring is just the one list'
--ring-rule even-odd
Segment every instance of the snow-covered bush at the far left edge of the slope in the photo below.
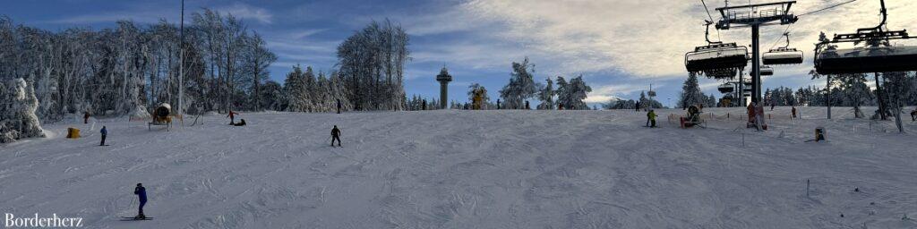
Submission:
{"label": "snow-covered bush at the far left edge of the slope", "polygon": [[0,88],[0,143],[45,136],[35,115],[39,100],[31,85],[18,78],[0,82]]}

